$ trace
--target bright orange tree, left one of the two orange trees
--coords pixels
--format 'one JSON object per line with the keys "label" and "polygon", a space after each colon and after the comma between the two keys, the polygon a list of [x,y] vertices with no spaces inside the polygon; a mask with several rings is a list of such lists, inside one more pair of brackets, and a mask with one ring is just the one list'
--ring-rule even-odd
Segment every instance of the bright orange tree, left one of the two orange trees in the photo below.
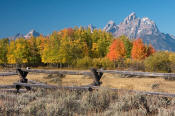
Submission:
{"label": "bright orange tree, left one of the two orange trees", "polygon": [[109,48],[109,53],[107,54],[107,57],[111,61],[115,61],[121,58],[124,58],[126,55],[126,50],[124,43],[121,39],[115,39]]}

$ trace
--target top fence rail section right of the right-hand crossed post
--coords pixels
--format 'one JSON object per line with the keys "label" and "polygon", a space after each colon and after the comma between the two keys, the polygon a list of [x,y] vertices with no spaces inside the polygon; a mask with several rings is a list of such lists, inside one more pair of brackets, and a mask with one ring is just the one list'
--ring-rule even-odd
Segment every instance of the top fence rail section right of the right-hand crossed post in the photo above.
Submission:
{"label": "top fence rail section right of the right-hand crossed post", "polygon": [[98,72],[123,74],[133,76],[148,76],[148,77],[175,77],[175,73],[155,73],[155,72],[138,72],[138,71],[118,71],[118,70],[98,70]]}

